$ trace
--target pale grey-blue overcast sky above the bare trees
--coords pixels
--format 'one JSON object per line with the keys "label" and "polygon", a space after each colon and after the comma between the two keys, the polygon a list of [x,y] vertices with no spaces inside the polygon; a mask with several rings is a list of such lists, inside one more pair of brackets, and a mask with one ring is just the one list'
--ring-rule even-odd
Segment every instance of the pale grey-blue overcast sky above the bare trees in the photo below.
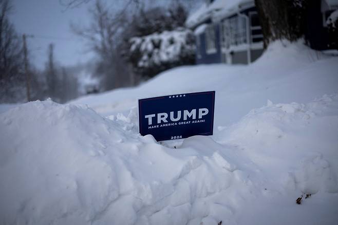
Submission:
{"label": "pale grey-blue overcast sky above the bare trees", "polygon": [[[55,60],[63,66],[84,63],[93,58],[88,46],[70,30],[70,22],[85,26],[90,23],[88,8],[95,0],[67,9],[59,0],[12,0],[12,22],[18,33],[32,34],[28,39],[30,60],[37,68],[44,68],[49,43],[54,44]],[[67,0],[64,0],[64,2]],[[168,3],[170,0],[147,0],[149,5]],[[126,0],[105,0],[114,9]],[[200,0],[196,0],[196,3]],[[195,5],[195,4],[193,4]]]}

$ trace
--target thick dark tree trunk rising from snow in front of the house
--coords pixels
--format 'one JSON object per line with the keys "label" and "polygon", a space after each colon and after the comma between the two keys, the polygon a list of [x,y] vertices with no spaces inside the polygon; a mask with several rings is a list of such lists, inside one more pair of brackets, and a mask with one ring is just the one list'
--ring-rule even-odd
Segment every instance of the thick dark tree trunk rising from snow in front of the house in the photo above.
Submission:
{"label": "thick dark tree trunk rising from snow in front of the house", "polygon": [[[313,0],[316,1],[316,0]],[[306,32],[307,0],[255,0],[264,47],[271,41],[296,41]]]}

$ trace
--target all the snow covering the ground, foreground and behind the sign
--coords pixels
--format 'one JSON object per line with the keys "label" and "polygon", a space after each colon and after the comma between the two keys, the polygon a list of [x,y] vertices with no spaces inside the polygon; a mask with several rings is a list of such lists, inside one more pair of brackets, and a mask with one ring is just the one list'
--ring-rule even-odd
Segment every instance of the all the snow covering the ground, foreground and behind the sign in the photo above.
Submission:
{"label": "all the snow covering the ground, foreground and behind the sign", "polygon": [[[0,224],[336,224],[338,58],[285,45],[250,66],[0,106]],[[205,90],[213,136],[138,134],[137,99]]]}

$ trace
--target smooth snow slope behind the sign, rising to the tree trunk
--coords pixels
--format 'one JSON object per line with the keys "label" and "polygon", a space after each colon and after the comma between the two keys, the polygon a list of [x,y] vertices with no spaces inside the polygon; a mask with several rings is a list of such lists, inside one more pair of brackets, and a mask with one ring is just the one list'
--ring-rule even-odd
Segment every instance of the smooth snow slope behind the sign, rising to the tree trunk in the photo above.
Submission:
{"label": "smooth snow slope behind the sign, rising to the tree trunk", "polygon": [[137,100],[176,93],[216,90],[215,124],[230,125],[252,108],[273,102],[309,102],[338,92],[338,58],[302,42],[275,42],[255,63],[183,66],[160,73],[136,88],[121,88],[73,100],[103,116],[137,107]]}

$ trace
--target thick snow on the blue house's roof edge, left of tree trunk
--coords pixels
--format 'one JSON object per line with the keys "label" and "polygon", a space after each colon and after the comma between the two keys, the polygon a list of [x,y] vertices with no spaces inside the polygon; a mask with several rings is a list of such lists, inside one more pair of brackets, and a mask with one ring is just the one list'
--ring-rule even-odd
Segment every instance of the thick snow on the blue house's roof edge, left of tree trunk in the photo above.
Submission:
{"label": "thick snow on the blue house's roof edge, left of tree trunk", "polygon": [[254,2],[253,0],[215,0],[210,5],[204,3],[197,11],[192,13],[186,20],[187,27],[195,27],[200,23],[211,18],[215,13],[222,11],[228,12],[237,9],[237,7],[244,3]]}

